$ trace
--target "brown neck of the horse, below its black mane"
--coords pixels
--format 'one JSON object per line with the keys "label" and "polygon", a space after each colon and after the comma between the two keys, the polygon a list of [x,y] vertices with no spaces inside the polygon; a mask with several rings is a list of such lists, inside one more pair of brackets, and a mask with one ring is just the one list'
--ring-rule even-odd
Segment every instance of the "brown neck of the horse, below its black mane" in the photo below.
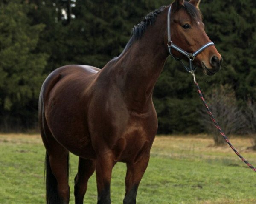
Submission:
{"label": "brown neck of the horse, below its black mane", "polygon": [[152,106],[154,85],[168,57],[163,25],[166,22],[157,20],[147,28],[140,40],[103,68],[108,70],[109,77],[114,76],[128,108],[133,111],[145,112]]}

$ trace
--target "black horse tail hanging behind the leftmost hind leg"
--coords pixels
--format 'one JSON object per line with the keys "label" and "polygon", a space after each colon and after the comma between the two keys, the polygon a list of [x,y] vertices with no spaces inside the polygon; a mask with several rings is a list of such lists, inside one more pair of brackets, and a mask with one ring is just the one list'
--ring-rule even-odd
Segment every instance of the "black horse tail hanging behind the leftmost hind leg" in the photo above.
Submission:
{"label": "black horse tail hanging behind the leftmost hind leg", "polygon": [[[50,167],[49,155],[45,155],[45,168],[46,171],[46,204],[62,204],[61,198],[58,195],[57,180],[52,173]],[[67,180],[69,178],[69,154],[67,155]]]}

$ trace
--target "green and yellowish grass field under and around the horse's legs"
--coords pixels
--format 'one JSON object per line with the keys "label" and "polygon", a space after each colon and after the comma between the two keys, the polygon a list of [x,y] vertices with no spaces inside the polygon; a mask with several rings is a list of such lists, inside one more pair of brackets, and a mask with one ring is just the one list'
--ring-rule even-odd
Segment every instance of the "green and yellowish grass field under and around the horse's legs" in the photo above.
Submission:
{"label": "green and yellowish grass field under and around the horse's legs", "polygon": [[[233,137],[241,154],[256,164],[251,141]],[[141,181],[137,204],[255,204],[256,175],[229,147],[212,147],[208,136],[158,136]],[[39,135],[0,134],[0,204],[43,204],[44,146]],[[70,156],[70,203],[78,159]],[[112,204],[122,204],[125,164],[114,167]],[[96,204],[96,178],[85,204]]]}

